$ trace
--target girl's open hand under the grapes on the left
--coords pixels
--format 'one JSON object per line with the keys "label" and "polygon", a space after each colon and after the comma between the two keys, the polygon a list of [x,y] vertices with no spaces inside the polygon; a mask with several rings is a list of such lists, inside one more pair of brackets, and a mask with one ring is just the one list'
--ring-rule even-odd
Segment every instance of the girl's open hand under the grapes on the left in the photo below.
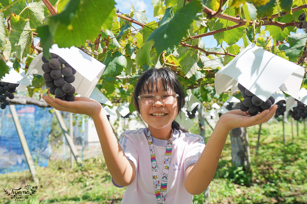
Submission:
{"label": "girl's open hand under the grapes on the left", "polygon": [[99,102],[86,97],[75,97],[75,101],[52,99],[49,96],[43,96],[42,98],[47,104],[57,110],[84,114],[90,117],[99,114],[100,111],[103,110]]}

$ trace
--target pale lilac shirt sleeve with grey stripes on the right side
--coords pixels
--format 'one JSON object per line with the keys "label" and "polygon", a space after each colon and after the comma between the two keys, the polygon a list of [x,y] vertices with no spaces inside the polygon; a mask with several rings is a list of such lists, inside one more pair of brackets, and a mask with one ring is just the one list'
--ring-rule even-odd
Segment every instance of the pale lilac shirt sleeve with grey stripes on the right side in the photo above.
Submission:
{"label": "pale lilac shirt sleeve with grey stripes on the right side", "polygon": [[204,138],[200,135],[188,135],[188,145],[186,150],[186,155],[184,159],[184,168],[190,166],[191,164],[195,164],[200,154],[205,148]]}

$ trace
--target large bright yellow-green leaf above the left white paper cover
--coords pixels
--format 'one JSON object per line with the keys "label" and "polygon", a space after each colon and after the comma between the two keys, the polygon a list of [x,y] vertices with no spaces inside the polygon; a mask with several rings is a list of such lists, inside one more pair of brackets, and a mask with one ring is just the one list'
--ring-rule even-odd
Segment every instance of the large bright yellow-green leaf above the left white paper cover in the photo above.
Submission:
{"label": "large bright yellow-green leaf above the left white paper cover", "polygon": [[[80,1],[80,0],[79,0]],[[70,1],[71,2],[71,1]],[[56,15],[54,20],[60,21],[54,36],[59,47],[71,47],[82,45],[87,39],[95,41],[97,33],[103,29],[111,28],[112,19],[115,16],[114,0],[83,0],[71,21],[65,22],[59,18],[65,14],[69,6],[65,7],[62,13]],[[52,17],[52,18],[54,18]],[[66,23],[69,23],[67,26]]]}

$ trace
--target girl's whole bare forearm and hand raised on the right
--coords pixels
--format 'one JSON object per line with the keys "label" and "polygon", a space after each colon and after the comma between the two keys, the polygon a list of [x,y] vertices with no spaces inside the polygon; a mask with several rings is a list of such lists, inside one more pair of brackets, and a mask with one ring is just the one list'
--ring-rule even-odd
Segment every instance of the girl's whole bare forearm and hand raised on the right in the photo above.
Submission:
{"label": "girl's whole bare forearm and hand raised on the right", "polygon": [[267,122],[274,115],[277,105],[255,116],[247,115],[241,110],[231,110],[221,115],[216,126],[195,164],[185,171],[185,188],[192,195],[206,190],[213,176],[224,148],[228,133],[237,127],[249,127]]}

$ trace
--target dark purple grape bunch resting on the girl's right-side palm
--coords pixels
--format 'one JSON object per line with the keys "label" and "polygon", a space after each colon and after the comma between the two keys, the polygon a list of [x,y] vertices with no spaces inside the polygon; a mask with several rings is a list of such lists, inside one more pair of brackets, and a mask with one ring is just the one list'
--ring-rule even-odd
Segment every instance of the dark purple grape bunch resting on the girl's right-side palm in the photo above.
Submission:
{"label": "dark purple grape bunch resting on the girl's right-side palm", "polygon": [[238,84],[238,89],[242,92],[242,97],[244,98],[243,103],[240,104],[239,108],[241,111],[246,112],[253,116],[261,113],[263,110],[271,108],[275,103],[273,96],[270,96],[265,102],[259,99],[255,94],[245,89],[241,84]]}

